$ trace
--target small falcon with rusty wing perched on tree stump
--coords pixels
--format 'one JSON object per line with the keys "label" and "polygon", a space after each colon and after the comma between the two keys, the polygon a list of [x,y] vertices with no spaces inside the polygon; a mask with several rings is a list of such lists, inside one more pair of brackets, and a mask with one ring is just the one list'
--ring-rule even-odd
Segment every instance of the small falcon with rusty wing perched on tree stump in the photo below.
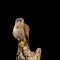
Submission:
{"label": "small falcon with rusty wing perched on tree stump", "polygon": [[18,41],[24,40],[24,42],[26,42],[26,39],[29,40],[29,31],[30,31],[30,28],[27,24],[24,23],[24,19],[17,18],[15,21],[15,25],[13,27],[13,36]]}

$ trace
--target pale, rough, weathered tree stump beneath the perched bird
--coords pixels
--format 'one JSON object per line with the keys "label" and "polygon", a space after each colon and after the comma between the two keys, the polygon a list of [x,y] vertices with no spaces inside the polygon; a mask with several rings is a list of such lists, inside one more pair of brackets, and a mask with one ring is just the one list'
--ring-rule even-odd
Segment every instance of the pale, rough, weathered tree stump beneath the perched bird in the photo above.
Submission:
{"label": "pale, rough, weathered tree stump beneath the perched bird", "polygon": [[28,46],[19,47],[16,60],[40,60],[41,48],[37,48],[35,52],[31,52]]}

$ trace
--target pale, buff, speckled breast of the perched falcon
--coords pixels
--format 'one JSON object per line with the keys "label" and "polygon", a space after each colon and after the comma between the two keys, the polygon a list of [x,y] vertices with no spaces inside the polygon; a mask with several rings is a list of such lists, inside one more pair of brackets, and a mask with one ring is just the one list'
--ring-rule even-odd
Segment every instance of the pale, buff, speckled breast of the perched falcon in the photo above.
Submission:
{"label": "pale, buff, speckled breast of the perched falcon", "polygon": [[18,36],[23,39],[25,37],[23,28],[13,28],[13,35],[15,38],[18,38]]}

